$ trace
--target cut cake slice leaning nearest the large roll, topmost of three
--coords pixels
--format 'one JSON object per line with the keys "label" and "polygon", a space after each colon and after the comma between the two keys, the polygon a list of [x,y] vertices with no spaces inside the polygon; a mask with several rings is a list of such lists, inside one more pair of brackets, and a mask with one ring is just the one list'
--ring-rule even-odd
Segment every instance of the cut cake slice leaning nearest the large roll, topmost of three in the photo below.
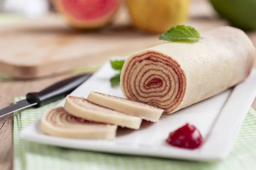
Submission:
{"label": "cut cake slice leaning nearest the large roll, topmost of three", "polygon": [[99,92],[90,92],[87,100],[98,105],[102,105],[106,108],[111,108],[115,111],[137,116],[151,122],[158,122],[163,113],[163,109],[160,108],[154,108],[140,102],[134,102]]}

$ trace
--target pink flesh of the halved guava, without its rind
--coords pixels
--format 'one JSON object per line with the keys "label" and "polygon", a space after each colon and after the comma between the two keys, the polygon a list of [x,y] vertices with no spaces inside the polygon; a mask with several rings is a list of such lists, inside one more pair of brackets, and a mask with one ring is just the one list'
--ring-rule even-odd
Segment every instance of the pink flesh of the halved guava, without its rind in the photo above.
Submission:
{"label": "pink flesh of the halved guava, without its rind", "polygon": [[120,0],[60,0],[64,11],[76,20],[95,20],[116,11]]}

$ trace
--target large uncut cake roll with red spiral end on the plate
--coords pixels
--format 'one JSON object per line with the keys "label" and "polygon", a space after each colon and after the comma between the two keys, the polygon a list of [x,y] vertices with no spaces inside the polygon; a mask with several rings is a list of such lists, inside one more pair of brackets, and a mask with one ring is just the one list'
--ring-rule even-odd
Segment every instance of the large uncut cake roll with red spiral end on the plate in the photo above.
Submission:
{"label": "large uncut cake roll with red spiral end on the plate", "polygon": [[166,42],[131,54],[121,73],[127,99],[173,113],[243,81],[255,48],[240,29],[224,26],[198,42]]}

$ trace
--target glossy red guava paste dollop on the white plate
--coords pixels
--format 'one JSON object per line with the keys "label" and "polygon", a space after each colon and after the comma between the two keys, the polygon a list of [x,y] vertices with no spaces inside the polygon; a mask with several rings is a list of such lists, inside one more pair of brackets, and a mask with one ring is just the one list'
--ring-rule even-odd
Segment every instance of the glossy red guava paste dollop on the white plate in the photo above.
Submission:
{"label": "glossy red guava paste dollop on the white plate", "polygon": [[195,126],[187,123],[171,132],[166,142],[175,147],[196,149],[203,144],[204,138]]}

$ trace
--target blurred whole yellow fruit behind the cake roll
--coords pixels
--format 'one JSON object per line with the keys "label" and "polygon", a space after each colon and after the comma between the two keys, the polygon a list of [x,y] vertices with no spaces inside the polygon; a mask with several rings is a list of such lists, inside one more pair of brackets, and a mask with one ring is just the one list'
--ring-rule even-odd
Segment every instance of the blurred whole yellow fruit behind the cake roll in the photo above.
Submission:
{"label": "blurred whole yellow fruit behind the cake roll", "polygon": [[132,24],[149,33],[163,33],[186,20],[189,0],[126,0]]}

